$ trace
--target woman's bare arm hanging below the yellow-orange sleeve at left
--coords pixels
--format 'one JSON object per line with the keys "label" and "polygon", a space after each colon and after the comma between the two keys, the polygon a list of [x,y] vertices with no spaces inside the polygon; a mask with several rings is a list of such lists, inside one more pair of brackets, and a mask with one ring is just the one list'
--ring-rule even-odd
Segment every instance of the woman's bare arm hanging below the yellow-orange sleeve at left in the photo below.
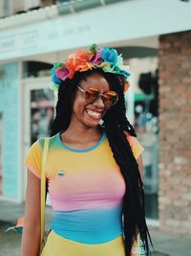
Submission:
{"label": "woman's bare arm hanging below the yellow-orange sleeve at left", "polygon": [[28,170],[21,256],[39,255],[40,229],[40,179]]}

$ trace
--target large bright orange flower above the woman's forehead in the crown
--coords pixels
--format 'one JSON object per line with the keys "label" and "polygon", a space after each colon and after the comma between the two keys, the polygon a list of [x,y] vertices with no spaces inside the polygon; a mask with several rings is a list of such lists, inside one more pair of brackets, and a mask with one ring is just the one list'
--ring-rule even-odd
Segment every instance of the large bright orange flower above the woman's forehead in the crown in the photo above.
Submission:
{"label": "large bright orange flower above the woman's forehead in the crown", "polygon": [[74,54],[70,55],[66,61],[66,67],[69,69],[69,79],[73,79],[75,71],[86,71],[90,67],[86,64],[92,55],[88,54],[84,49],[78,49]]}

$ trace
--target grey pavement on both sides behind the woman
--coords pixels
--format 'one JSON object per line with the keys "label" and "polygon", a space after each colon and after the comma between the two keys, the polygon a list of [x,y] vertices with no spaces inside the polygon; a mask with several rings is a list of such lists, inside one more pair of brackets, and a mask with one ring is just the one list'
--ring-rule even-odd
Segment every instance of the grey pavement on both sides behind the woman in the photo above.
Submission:
{"label": "grey pavement on both sides behind the woman", "polygon": [[[24,204],[0,201],[0,256],[19,256],[20,235],[14,231],[5,233],[4,230],[15,224],[17,218],[24,214]],[[51,208],[46,209],[46,226],[52,218]],[[149,227],[156,253],[152,256],[190,256],[191,238],[186,239]],[[76,255],[81,256],[81,255]],[[109,255],[108,255],[109,256]]]}

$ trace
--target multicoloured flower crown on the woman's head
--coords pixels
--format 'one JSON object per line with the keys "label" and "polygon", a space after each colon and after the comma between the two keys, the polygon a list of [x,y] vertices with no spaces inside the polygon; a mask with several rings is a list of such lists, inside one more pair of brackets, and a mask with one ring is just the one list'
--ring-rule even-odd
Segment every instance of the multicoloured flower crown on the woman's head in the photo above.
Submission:
{"label": "multicoloured flower crown on the woman's head", "polygon": [[97,49],[96,44],[93,44],[88,51],[85,49],[76,50],[65,62],[54,63],[51,89],[58,90],[62,81],[72,80],[76,71],[84,72],[96,68],[100,68],[107,73],[116,74],[124,85],[124,91],[128,89],[129,82],[127,78],[131,73],[127,71],[127,66],[123,65],[121,55],[117,55],[116,49],[110,49],[107,46]]}

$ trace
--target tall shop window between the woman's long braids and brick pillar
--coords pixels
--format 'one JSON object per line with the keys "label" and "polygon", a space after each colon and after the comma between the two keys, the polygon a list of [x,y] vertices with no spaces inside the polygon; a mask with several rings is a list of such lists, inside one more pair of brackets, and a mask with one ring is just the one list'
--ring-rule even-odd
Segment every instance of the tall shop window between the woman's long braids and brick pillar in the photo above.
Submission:
{"label": "tall shop window between the woman's long braids and brick pillar", "polygon": [[144,148],[144,191],[146,217],[158,220],[159,193],[159,70],[158,58],[132,58],[134,126]]}

